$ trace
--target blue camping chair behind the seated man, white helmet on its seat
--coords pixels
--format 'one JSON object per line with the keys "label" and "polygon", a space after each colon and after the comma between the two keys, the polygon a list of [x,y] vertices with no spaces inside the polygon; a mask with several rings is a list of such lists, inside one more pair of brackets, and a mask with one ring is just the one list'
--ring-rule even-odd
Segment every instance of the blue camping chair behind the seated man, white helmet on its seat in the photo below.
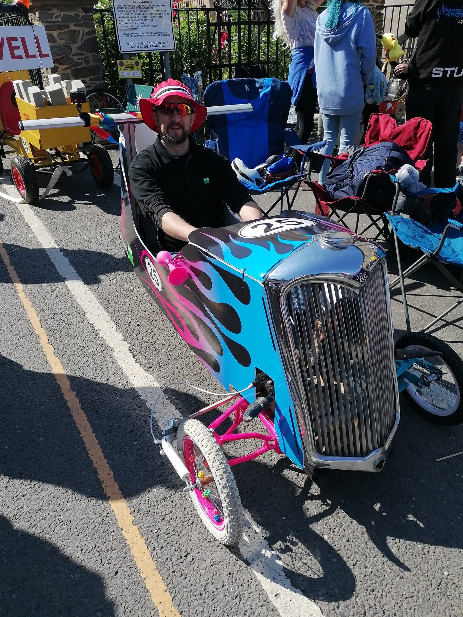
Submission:
{"label": "blue camping chair behind the seated man, white helmet on its seat", "polygon": [[[243,114],[214,115],[208,118],[215,140],[205,145],[217,149],[230,162],[235,158],[241,159],[246,167],[255,168],[264,164],[271,155],[283,154],[285,142],[287,146],[304,153],[299,173],[282,180],[270,181],[263,187],[243,182],[252,194],[280,191],[280,196],[265,214],[278,202],[281,212],[285,198],[287,208],[291,210],[302,181],[309,175],[304,172],[307,152],[324,146],[324,142],[311,146],[299,144],[296,133],[292,129],[285,130],[290,114],[291,96],[288,82],[275,78],[215,81],[207,86],[204,93],[204,104],[207,107],[251,103],[254,108],[252,112]],[[296,191],[290,201],[289,191],[295,184]]]}

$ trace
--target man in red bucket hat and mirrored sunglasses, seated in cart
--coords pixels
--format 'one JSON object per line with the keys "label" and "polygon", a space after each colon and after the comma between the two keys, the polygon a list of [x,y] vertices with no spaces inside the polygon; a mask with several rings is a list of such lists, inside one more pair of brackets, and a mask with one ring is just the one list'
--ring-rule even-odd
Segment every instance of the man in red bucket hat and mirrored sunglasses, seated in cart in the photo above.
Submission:
{"label": "man in red bucket hat and mirrored sunglasses, seated in cart", "polygon": [[189,88],[180,81],[163,81],[151,98],[140,100],[140,112],[144,123],[158,133],[129,171],[141,237],[149,246],[159,243],[177,252],[198,227],[232,222],[231,212],[243,221],[262,217],[227,159],[191,138],[207,110]]}

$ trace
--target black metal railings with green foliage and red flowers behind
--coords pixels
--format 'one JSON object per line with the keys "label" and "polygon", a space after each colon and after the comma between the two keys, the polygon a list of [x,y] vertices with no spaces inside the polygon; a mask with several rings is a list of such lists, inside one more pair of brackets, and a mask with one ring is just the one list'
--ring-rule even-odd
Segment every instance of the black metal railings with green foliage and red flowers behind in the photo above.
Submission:
{"label": "black metal railings with green foliage and red flowers behind", "polygon": [[[217,4],[221,2],[216,1]],[[213,81],[235,77],[235,69],[240,65],[260,64],[268,77],[286,79],[290,52],[283,47],[281,39],[274,41],[272,38],[273,19],[265,1],[226,1],[226,8],[220,4],[211,8],[185,9],[173,3],[176,48],[169,52],[171,76],[181,79],[183,73],[193,75],[201,70],[206,87]],[[406,17],[412,7],[412,4],[384,7],[383,32],[403,35]],[[112,92],[122,96],[126,83],[117,75],[120,52],[112,9],[95,7],[94,20],[104,81]],[[411,55],[409,47],[412,43],[414,41],[406,41],[406,57]],[[159,54],[131,54],[131,57],[135,56],[141,62],[142,71],[142,77],[134,80],[135,83],[159,83],[164,77]]]}

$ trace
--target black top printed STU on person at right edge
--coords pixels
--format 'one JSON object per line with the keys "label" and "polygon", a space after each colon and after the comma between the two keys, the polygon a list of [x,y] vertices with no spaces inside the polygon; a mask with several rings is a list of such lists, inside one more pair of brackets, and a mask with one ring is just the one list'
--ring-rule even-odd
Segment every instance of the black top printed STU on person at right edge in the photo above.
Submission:
{"label": "black top printed STU on person at right edge", "polygon": [[463,84],[462,0],[416,0],[405,33],[418,37],[411,80]]}

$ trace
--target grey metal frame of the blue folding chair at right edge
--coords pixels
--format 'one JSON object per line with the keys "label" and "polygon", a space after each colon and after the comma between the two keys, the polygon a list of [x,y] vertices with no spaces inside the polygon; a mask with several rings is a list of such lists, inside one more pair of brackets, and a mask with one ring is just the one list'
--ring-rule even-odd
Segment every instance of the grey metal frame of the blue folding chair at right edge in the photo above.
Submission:
{"label": "grey metal frame of the blue folding chair at right edge", "polygon": [[[391,214],[395,213],[397,201],[399,199],[399,194],[400,194],[400,191],[401,191],[400,184],[397,181],[395,182],[395,184],[396,184],[396,194],[394,196],[394,203],[393,203],[393,208],[391,210]],[[462,276],[460,277],[460,280],[457,280],[457,278],[455,276],[453,276],[453,274],[451,272],[449,272],[448,268],[446,268],[444,266],[444,264],[442,263],[442,261],[438,258],[438,255],[440,254],[440,251],[441,251],[442,247],[444,246],[444,241],[445,241],[445,239],[446,239],[446,237],[447,237],[447,235],[448,235],[448,233],[449,233],[449,231],[451,229],[463,231],[463,223],[459,223],[457,221],[449,219],[446,227],[444,228],[443,234],[441,236],[440,242],[439,242],[438,247],[436,248],[436,250],[432,251],[430,253],[427,253],[427,252],[423,251],[424,254],[415,263],[413,263],[409,268],[407,268],[405,271],[402,270],[402,263],[401,263],[400,254],[399,254],[399,241],[398,241],[398,237],[397,237],[397,234],[394,233],[394,230],[392,230],[392,233],[394,234],[394,244],[396,246],[396,255],[397,255],[397,265],[398,265],[398,269],[399,269],[399,276],[397,278],[394,278],[394,280],[390,283],[389,289],[390,290],[393,289],[394,287],[396,287],[400,283],[401,293],[402,293],[402,300],[403,300],[403,305],[404,305],[405,321],[406,321],[406,326],[407,326],[407,332],[409,332],[409,333],[411,332],[411,326],[410,326],[410,316],[409,316],[409,310],[408,310],[407,294],[406,294],[406,291],[405,291],[405,283],[404,283],[404,279],[406,278],[406,276],[409,276],[409,275],[413,274],[414,272],[420,270],[420,268],[422,268],[424,265],[426,265],[427,263],[431,262],[463,294],[463,281],[462,281],[463,280],[463,269],[462,269]],[[427,332],[436,323],[438,323],[438,321],[441,321],[444,317],[446,317],[446,315],[451,313],[460,304],[462,304],[462,302],[463,302],[463,297],[460,298],[459,300],[457,300],[457,302],[455,302],[453,305],[451,305],[451,307],[449,309],[444,310],[444,312],[441,313],[438,317],[436,317],[435,319],[430,321],[430,323],[428,323],[427,326],[425,326],[424,328],[420,329],[420,332]]]}

